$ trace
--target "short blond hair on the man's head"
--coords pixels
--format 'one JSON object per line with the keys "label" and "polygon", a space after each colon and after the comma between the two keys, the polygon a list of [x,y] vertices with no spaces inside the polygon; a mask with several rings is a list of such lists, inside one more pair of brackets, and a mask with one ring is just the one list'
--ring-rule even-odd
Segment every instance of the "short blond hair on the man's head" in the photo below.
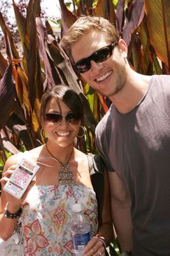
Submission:
{"label": "short blond hair on the man's head", "polygon": [[109,20],[102,17],[83,16],[80,17],[71,28],[68,29],[66,34],[62,37],[60,44],[67,52],[69,58],[71,56],[71,46],[75,44],[82,36],[87,35],[92,30],[99,31],[104,35],[104,38],[110,42],[118,42],[120,36],[113,24]]}

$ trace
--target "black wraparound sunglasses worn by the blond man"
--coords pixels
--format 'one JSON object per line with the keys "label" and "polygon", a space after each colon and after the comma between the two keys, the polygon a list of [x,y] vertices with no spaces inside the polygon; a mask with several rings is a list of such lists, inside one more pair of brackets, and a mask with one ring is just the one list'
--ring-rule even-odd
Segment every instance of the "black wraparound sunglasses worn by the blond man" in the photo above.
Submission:
{"label": "black wraparound sunglasses worn by the blond man", "polygon": [[113,48],[117,45],[117,42],[114,42],[110,45],[106,45],[98,51],[94,52],[88,58],[78,61],[74,66],[78,70],[79,73],[87,72],[91,68],[91,60],[94,60],[96,63],[101,63],[105,60],[108,60],[112,55]]}

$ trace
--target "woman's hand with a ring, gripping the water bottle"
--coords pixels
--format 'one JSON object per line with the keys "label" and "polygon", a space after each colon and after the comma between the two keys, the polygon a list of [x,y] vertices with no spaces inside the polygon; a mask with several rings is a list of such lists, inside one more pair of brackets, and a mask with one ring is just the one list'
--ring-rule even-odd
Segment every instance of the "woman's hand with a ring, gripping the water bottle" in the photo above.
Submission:
{"label": "woman's hand with a ring, gripping the water bottle", "polygon": [[105,256],[105,248],[97,236],[92,237],[87,246],[83,248],[84,256]]}

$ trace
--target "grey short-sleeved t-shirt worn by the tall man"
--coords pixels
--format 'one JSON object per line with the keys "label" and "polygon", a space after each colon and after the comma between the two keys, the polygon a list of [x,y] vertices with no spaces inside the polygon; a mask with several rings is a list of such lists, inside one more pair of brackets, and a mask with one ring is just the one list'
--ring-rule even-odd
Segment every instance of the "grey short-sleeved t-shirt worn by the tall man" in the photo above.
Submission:
{"label": "grey short-sleeved t-shirt worn by the tall man", "polygon": [[170,76],[152,76],[127,114],[113,104],[96,128],[109,172],[131,196],[133,256],[170,255]]}

